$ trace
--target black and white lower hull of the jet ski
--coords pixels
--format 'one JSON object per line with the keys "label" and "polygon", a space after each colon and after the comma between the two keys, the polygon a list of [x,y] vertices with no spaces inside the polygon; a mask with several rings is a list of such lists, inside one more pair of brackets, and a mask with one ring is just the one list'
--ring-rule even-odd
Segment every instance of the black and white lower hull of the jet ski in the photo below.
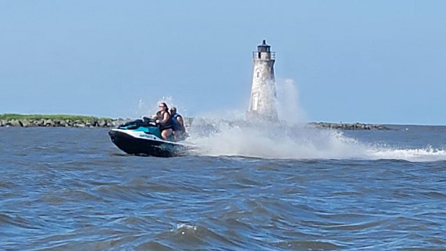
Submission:
{"label": "black and white lower hull of the jet ski", "polygon": [[191,146],[168,142],[144,132],[112,129],[109,131],[109,136],[119,149],[133,155],[174,157],[187,155],[187,151],[191,149]]}

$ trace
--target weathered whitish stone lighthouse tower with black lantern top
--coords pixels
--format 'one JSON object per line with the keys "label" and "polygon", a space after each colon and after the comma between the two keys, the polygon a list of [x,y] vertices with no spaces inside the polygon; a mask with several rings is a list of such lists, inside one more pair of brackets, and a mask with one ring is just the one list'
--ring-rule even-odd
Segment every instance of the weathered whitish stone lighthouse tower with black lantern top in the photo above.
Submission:
{"label": "weathered whitish stone lighthouse tower with black lantern top", "polygon": [[266,40],[257,46],[256,52],[252,52],[252,61],[254,75],[246,117],[248,120],[276,121],[275,52],[270,51]]}

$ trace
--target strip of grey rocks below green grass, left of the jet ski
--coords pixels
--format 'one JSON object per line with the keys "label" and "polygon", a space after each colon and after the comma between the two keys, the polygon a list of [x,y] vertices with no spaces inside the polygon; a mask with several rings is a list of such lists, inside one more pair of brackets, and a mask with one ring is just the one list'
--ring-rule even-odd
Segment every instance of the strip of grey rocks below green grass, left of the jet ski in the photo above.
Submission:
{"label": "strip of grey rocks below green grass, left of the jet ski", "polygon": [[113,128],[128,119],[0,119],[0,127]]}

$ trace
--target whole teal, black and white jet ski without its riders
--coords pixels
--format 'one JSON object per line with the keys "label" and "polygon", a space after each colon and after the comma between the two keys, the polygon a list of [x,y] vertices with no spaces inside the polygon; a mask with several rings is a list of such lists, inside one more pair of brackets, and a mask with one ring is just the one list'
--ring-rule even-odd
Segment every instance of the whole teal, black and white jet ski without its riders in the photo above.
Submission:
{"label": "whole teal, black and white jet ski without its riders", "polygon": [[109,131],[112,142],[128,154],[150,155],[155,157],[174,157],[187,155],[194,149],[192,144],[174,142],[174,136],[169,140],[161,137],[160,129],[155,120],[143,117],[119,126]]}

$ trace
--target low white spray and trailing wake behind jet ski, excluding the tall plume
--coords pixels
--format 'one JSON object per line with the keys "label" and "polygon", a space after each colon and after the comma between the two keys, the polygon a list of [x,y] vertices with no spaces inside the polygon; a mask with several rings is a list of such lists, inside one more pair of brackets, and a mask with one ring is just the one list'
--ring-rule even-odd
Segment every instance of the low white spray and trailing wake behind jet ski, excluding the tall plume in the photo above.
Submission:
{"label": "low white spray and trailing wake behind jet ski, excluding the tall plume", "polygon": [[346,137],[339,130],[305,127],[213,124],[216,132],[192,137],[203,155],[236,155],[283,159],[446,160],[444,149],[397,149]]}

